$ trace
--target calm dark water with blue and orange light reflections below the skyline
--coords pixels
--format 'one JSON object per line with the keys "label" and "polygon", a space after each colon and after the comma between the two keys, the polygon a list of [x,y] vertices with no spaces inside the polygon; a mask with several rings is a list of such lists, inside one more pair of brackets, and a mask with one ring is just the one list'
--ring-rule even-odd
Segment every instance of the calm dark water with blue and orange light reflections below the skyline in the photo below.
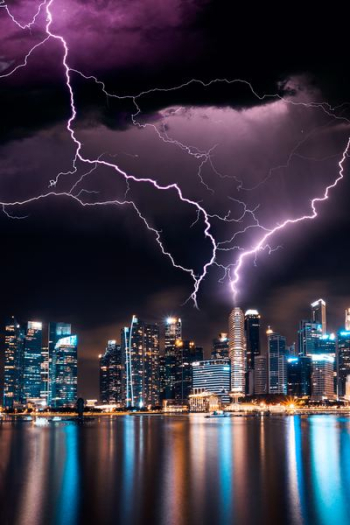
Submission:
{"label": "calm dark water with blue and orange light reflections below the skyline", "polygon": [[0,426],[1,525],[350,523],[350,419]]}

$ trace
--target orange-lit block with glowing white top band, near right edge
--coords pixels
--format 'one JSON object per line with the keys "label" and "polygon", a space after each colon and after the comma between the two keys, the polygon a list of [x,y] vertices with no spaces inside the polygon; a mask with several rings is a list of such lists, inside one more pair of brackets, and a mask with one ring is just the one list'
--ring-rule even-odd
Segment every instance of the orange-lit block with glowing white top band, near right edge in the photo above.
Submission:
{"label": "orange-lit block with glowing white top band, near right edge", "polygon": [[334,357],[313,355],[311,372],[311,399],[322,401],[334,398]]}

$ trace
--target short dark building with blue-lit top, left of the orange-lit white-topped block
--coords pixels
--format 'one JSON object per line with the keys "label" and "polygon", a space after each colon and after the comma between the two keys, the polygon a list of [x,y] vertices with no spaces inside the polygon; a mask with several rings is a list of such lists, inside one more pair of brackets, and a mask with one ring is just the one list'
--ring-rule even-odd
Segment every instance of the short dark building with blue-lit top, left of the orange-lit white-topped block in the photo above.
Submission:
{"label": "short dark building with blue-lit top, left of the orange-lit white-topped block", "polygon": [[311,395],[311,357],[287,358],[287,394],[289,396]]}

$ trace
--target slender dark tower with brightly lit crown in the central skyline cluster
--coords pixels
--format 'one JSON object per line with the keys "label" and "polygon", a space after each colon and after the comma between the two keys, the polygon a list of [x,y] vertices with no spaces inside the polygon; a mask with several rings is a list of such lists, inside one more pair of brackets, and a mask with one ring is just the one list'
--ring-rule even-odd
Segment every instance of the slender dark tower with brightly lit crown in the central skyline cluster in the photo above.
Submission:
{"label": "slender dark tower with brightly lit crown in the central skyline cluster", "polygon": [[176,382],[176,341],[182,339],[182,322],[178,317],[168,317],[165,322],[165,369],[166,369],[166,399],[175,399]]}

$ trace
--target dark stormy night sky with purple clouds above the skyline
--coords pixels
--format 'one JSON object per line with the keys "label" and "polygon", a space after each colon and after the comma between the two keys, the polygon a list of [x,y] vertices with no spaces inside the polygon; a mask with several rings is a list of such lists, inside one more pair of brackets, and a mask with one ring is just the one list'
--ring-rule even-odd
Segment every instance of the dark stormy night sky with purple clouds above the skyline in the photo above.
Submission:
{"label": "dark stormy night sky with purple clouds above the skyline", "polygon": [[[39,4],[13,1],[8,7],[25,25]],[[67,42],[69,67],[122,97],[107,97],[101,85],[71,73],[72,127],[84,156],[116,164],[137,179],[176,183],[211,215],[220,247],[217,265],[201,283],[199,310],[191,300],[184,305],[193,280],[161,253],[135,207],[161,232],[176,263],[197,274],[212,255],[203,214],[174,189],[127,184],[109,167],[81,179],[94,165],[78,161],[72,172],[62,43],[49,39],[26,68],[8,75],[47,36],[45,6],[30,29],[16,26],[1,8],[0,77],[7,76],[0,79],[0,202],[68,193],[77,183],[72,193],[87,205],[51,195],[4,207],[0,322],[12,314],[71,322],[79,335],[79,394],[94,397],[97,356],[107,339],[119,339],[134,313],[160,324],[169,314],[180,315],[184,336],[209,355],[234,306],[223,267],[231,265],[232,272],[241,250],[259,241],[265,230],[258,223],[271,229],[310,213],[311,199],[337,178],[350,131],[348,20],[336,2],[325,13],[295,3],[51,0],[50,12],[51,31]],[[130,95],[193,78],[246,82],[145,94],[137,98],[133,123]],[[209,150],[210,158],[203,155]],[[272,253],[247,259],[240,272],[236,304],[258,308],[263,326],[271,324],[289,343],[311,301],[327,301],[333,330],[350,305],[347,159],[343,167],[344,179],[317,206],[318,218],[281,230],[269,239]],[[125,199],[129,204],[96,205]]]}

